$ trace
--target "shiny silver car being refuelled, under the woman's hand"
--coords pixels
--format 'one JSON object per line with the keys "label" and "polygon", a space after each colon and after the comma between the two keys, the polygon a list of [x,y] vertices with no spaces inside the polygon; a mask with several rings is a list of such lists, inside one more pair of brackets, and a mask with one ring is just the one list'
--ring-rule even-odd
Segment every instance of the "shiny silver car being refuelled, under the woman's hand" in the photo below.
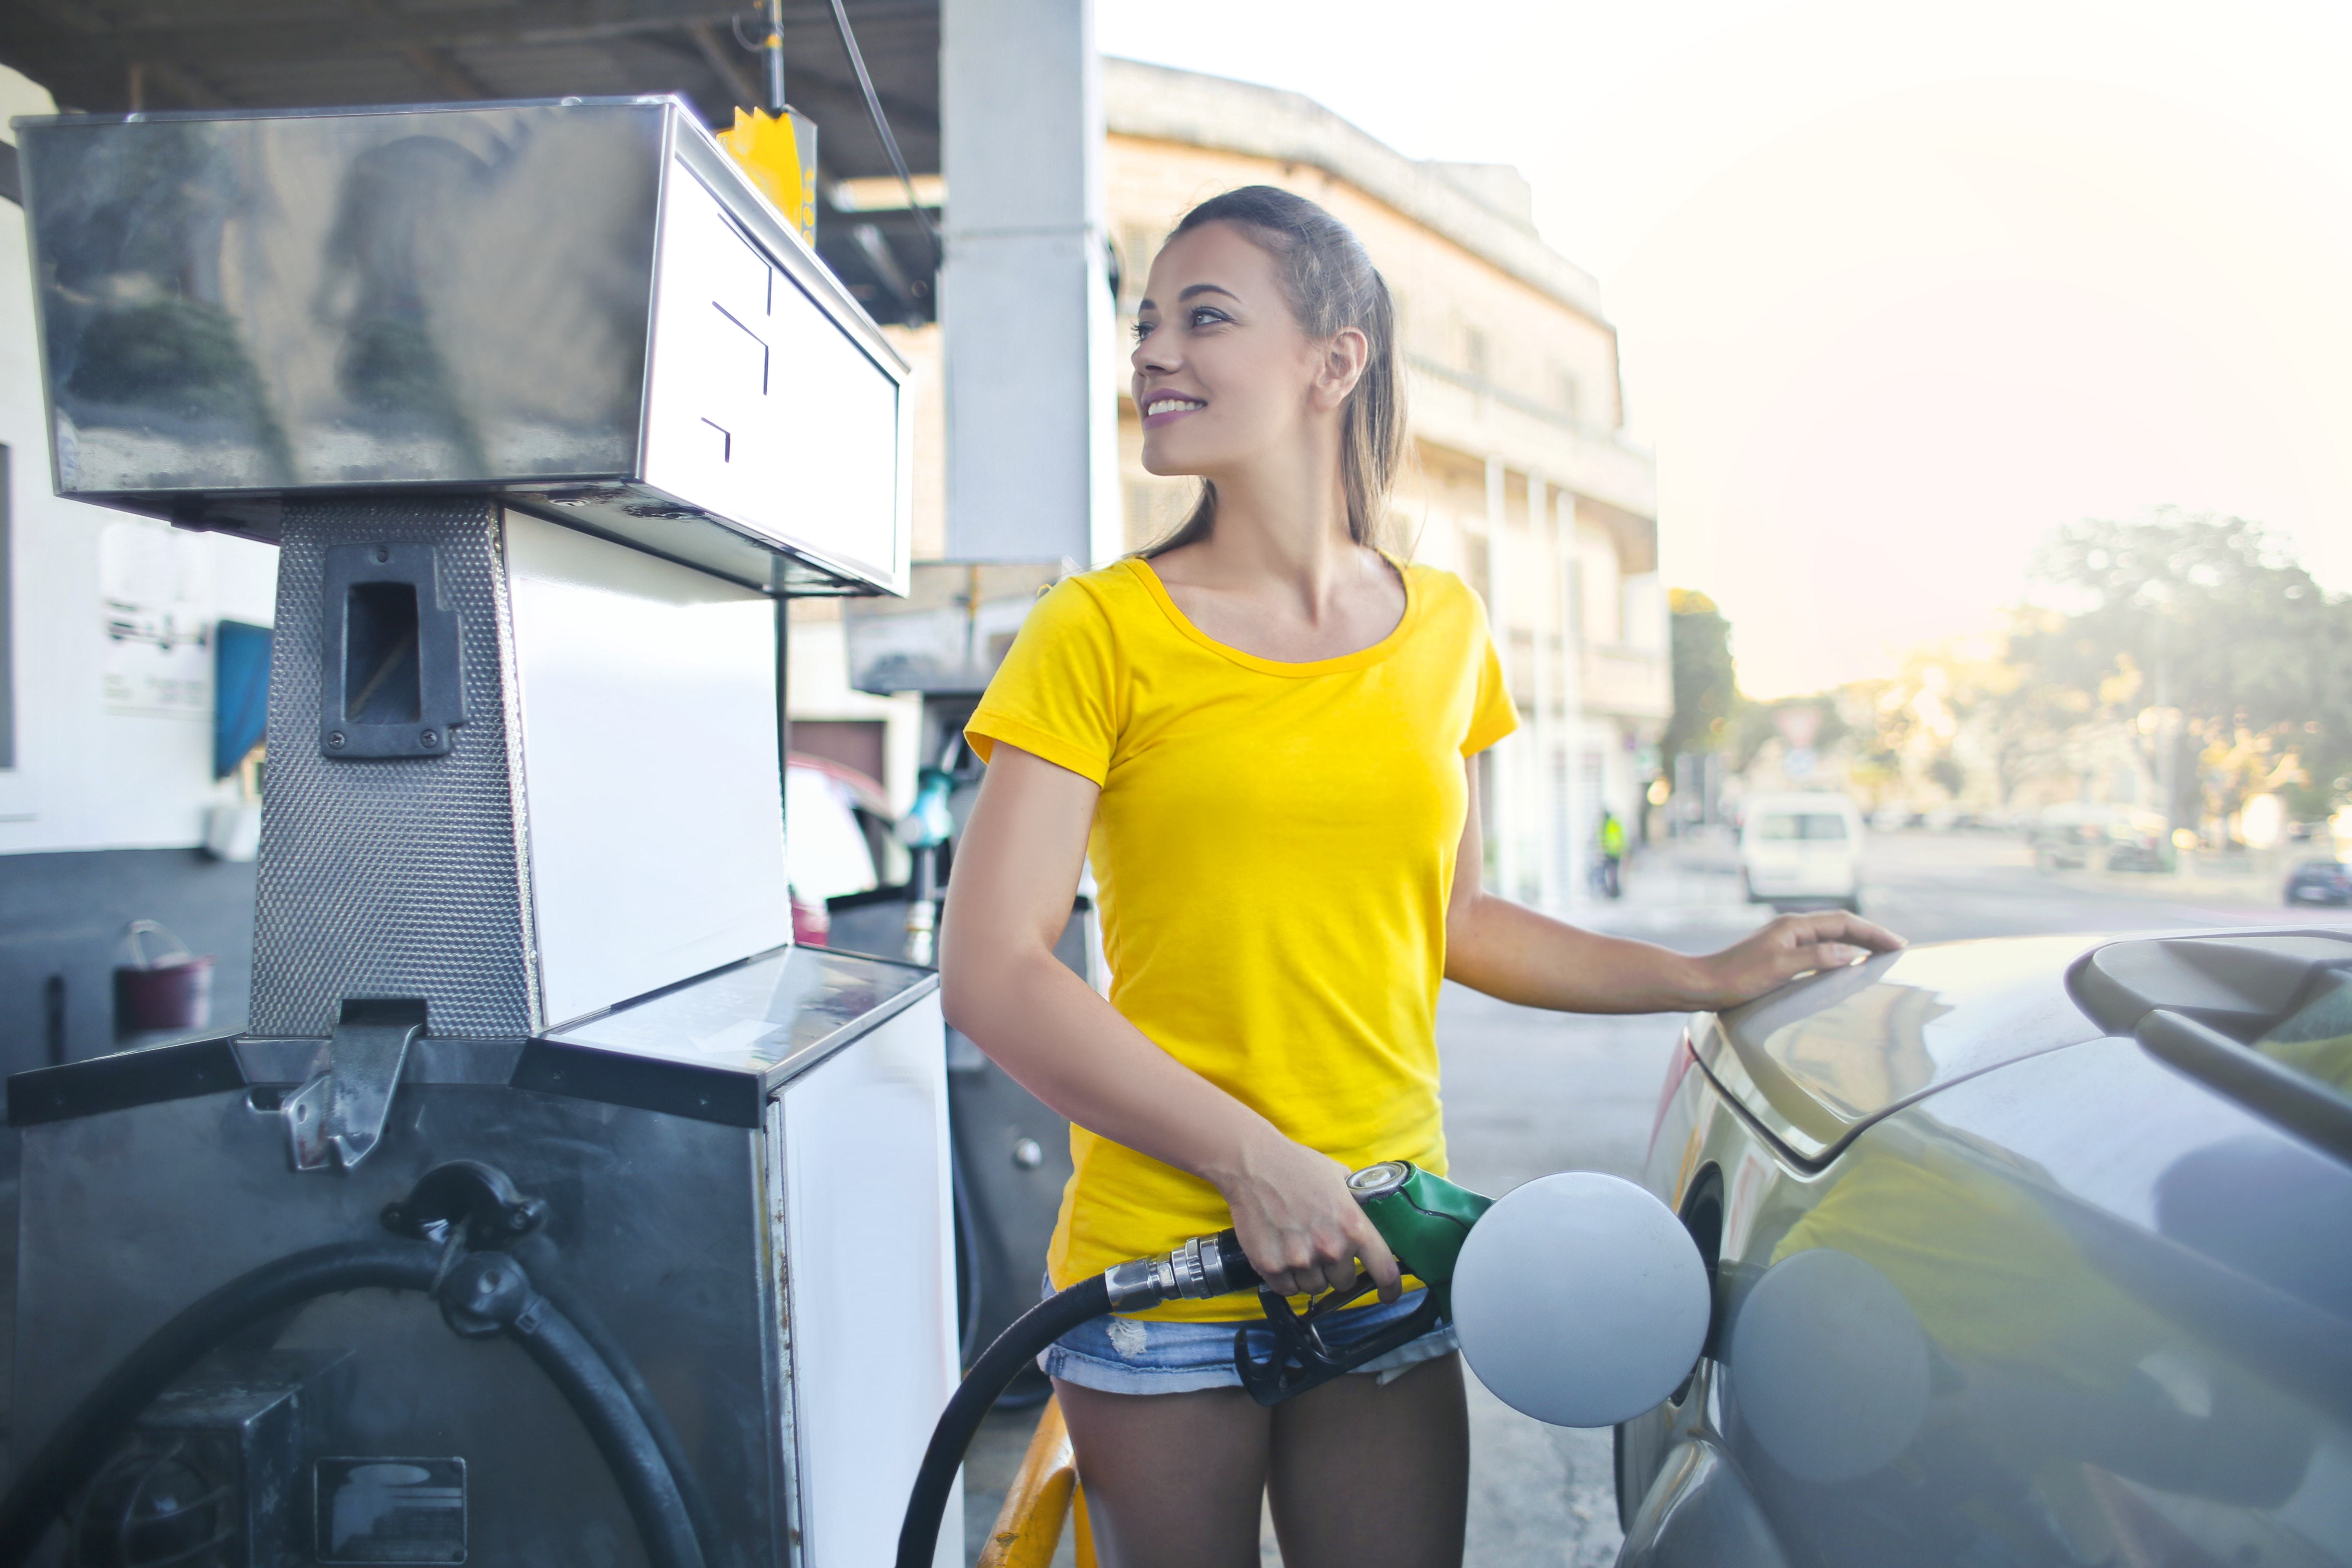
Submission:
{"label": "shiny silver car being refuelled, under the woman's hand", "polygon": [[1693,1016],[1644,1182],[1715,1312],[1621,1568],[2352,1563],[2352,924]]}

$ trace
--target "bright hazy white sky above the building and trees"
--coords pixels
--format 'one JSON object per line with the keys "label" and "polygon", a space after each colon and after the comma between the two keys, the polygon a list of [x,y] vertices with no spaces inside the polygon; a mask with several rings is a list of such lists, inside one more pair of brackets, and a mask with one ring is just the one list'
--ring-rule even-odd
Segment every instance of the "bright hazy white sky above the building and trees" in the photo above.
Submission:
{"label": "bright hazy white sky above the building and trees", "polygon": [[1526,174],[1750,696],[1994,630],[2082,517],[2253,517],[2352,590],[2352,5],[1096,0],[1096,33]]}

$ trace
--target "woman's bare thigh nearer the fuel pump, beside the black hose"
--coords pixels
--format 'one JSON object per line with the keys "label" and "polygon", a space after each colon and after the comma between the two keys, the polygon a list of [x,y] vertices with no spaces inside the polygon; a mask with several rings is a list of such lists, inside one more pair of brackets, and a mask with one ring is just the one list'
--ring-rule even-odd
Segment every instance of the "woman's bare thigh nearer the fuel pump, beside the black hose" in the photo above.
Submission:
{"label": "woman's bare thigh nearer the fuel pump, beside the black hose", "polygon": [[1061,1378],[1054,1399],[1103,1568],[1258,1566],[1270,1410],[1242,1389],[1105,1394]]}

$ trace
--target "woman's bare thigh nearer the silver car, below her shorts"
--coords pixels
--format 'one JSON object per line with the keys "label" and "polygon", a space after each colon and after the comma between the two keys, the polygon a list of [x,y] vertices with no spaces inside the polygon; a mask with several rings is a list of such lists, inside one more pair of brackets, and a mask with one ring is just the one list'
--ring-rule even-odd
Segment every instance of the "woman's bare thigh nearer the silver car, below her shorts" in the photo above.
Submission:
{"label": "woman's bare thigh nearer the silver car, below her shorts", "polygon": [[1334,1378],[1272,1418],[1268,1493],[1284,1568],[1461,1568],[1470,1410],[1458,1354],[1388,1387]]}

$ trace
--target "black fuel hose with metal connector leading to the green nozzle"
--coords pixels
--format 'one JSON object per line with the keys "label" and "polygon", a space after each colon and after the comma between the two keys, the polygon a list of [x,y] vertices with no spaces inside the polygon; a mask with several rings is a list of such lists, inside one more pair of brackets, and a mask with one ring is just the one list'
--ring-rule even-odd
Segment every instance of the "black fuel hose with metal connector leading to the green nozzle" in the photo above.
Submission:
{"label": "black fuel hose with metal connector leading to the green nozzle", "polygon": [[922,1467],[906,1500],[906,1521],[898,1526],[898,1568],[931,1568],[938,1521],[948,1512],[948,1493],[955,1490],[955,1472],[964,1465],[971,1434],[981,1429],[981,1418],[997,1394],[1021,1375],[1023,1366],[1042,1356],[1047,1345],[1110,1312],[1141,1312],[1178,1295],[1192,1300],[1230,1295],[1256,1284],[1258,1272],[1242,1258],[1240,1237],[1228,1229],[1195,1237],[1160,1258],[1120,1262],[1016,1316],[1011,1328],[971,1363],[948,1408],[941,1410],[938,1425],[931,1427],[931,1443],[922,1450]]}

